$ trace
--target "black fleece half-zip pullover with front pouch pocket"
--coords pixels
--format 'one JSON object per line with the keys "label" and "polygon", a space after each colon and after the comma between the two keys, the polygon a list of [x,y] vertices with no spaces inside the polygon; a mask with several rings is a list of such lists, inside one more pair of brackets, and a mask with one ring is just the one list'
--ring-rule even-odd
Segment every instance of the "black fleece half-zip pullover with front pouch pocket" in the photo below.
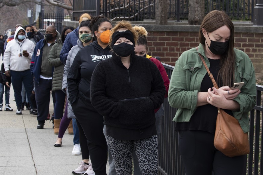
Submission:
{"label": "black fleece half-zip pullover with front pouch pocket", "polygon": [[154,109],[163,103],[166,90],[157,66],[133,52],[129,69],[116,54],[100,62],[90,92],[106,126],[137,130],[155,123]]}

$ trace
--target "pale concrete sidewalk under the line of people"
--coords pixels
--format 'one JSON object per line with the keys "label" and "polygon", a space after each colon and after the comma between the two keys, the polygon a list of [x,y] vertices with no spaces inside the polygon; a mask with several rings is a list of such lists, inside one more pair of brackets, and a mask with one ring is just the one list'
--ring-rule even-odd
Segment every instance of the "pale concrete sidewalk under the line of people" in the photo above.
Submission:
{"label": "pale concrete sidewalk under the line of people", "polygon": [[[11,85],[9,102],[13,111],[4,111],[4,106],[0,111],[0,174],[71,175],[82,160],[81,155],[71,154],[73,135],[66,131],[62,146],[54,147],[58,135],[54,135],[52,122],[45,121],[44,129],[36,129],[36,115],[31,115],[28,110],[16,115],[17,107],[13,99]],[[52,97],[49,113],[53,113]]]}

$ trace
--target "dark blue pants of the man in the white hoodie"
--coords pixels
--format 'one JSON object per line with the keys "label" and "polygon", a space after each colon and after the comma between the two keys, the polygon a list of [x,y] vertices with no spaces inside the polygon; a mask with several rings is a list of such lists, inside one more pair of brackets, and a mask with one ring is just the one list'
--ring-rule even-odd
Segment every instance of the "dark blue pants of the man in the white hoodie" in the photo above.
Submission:
{"label": "dark blue pants of the man in the white hoodie", "polygon": [[31,103],[30,100],[30,94],[33,91],[33,75],[31,75],[30,69],[25,71],[19,71],[19,72],[11,70],[10,75],[13,84],[14,96],[15,96],[17,108],[21,108],[22,105],[21,91],[22,91],[22,83],[23,83],[26,89],[28,102],[30,104],[31,109],[33,109],[33,104]]}

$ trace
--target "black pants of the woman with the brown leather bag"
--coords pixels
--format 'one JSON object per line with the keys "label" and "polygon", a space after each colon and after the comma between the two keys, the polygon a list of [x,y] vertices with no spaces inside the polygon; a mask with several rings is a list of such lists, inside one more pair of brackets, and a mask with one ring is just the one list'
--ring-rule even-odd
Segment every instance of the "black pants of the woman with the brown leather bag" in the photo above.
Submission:
{"label": "black pants of the woman with the brown leather bag", "polygon": [[246,155],[227,157],[214,147],[214,134],[206,131],[179,131],[179,153],[186,175],[242,175]]}

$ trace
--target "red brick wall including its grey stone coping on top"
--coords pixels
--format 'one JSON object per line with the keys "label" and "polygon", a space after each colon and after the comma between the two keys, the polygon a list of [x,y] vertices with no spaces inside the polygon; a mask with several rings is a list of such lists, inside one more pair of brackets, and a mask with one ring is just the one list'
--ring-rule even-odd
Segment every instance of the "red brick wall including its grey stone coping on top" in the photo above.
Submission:
{"label": "red brick wall including its grey stone coping on top", "polygon": [[[189,26],[187,22],[168,22],[170,25],[155,25],[151,22],[133,22],[146,28],[148,54],[161,57],[161,62],[174,66],[180,55],[199,45],[200,26]],[[255,67],[257,79],[263,79],[263,27],[252,26],[250,22],[233,22],[235,26],[235,48],[244,51]],[[79,25],[76,21],[62,21],[64,26]],[[114,22],[113,22],[114,25]]]}

